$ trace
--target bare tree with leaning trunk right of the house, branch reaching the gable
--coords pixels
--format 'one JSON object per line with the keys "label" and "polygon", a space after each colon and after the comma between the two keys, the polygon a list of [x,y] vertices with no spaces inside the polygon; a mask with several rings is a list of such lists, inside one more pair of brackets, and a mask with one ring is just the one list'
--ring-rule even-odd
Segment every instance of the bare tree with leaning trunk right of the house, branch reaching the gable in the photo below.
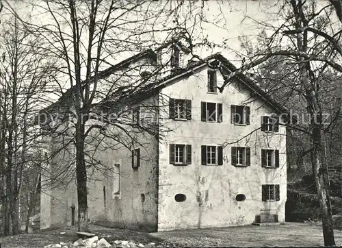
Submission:
{"label": "bare tree with leaning trunk right of the house, branch reaching the gable", "polygon": [[[328,246],[335,245],[328,192],[327,161],[322,140],[324,133],[329,130],[323,118],[319,87],[324,82],[322,73],[328,70],[342,72],[341,64],[337,62],[342,55],[339,45],[341,29],[334,23],[333,18],[330,18],[334,10],[338,18],[340,17],[341,3],[339,1],[331,1],[331,3],[333,5],[328,3],[319,5],[308,1],[278,2],[276,14],[282,15],[282,23],[272,25],[258,22],[264,30],[259,36],[261,43],[244,57],[241,67],[233,73],[224,73],[223,69],[220,69],[225,75],[224,84],[220,88],[222,92],[235,76],[257,68],[274,58],[280,58],[283,64],[291,66],[291,73],[288,74],[291,81],[276,82],[276,88],[287,88],[292,95],[303,97],[307,104],[306,111],[310,121],[308,126],[305,129],[298,125],[291,125],[291,127],[306,132],[311,138],[311,162],[321,205],[324,244]],[[334,116],[337,118],[339,112],[335,112]]]}

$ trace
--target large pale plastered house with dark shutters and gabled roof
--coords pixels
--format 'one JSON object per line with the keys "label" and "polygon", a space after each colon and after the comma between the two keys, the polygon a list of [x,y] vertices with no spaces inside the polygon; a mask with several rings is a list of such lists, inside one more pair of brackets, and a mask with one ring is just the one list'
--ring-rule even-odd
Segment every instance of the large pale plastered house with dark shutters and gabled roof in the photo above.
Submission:
{"label": "large pale plastered house with dark shutters and gabled roof", "polygon": [[[140,53],[103,77],[141,61],[159,66],[167,60],[160,54]],[[285,108],[246,75],[235,75],[220,92],[226,73],[235,71],[220,54],[189,62],[177,47],[165,54],[170,70],[164,68],[147,95],[135,97],[128,114],[136,125],[152,116],[158,135],[140,132],[131,148],[93,154],[107,169],[88,169],[90,221],[149,232],[284,222]],[[47,140],[55,149],[58,138]],[[73,151],[54,160],[49,173],[72,161]],[[69,177],[69,184],[42,186],[41,229],[75,223],[75,175]]]}

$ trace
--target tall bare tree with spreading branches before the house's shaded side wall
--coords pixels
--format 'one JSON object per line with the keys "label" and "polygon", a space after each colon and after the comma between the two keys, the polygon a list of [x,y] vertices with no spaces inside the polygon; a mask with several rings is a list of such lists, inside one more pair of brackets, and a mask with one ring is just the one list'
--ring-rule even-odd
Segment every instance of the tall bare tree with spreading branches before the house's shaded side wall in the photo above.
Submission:
{"label": "tall bare tree with spreading branches before the house's shaded side wall", "polygon": [[[148,71],[146,67],[150,64],[140,64],[139,68],[131,67],[125,69],[126,71],[116,71],[111,60],[118,60],[131,52],[163,45],[165,40],[172,40],[172,37],[179,38],[184,27],[194,28],[194,23],[189,23],[189,16],[194,19],[194,12],[181,14],[184,13],[182,10],[198,8],[201,11],[202,5],[187,1],[135,3],[92,0],[43,1],[39,5],[36,2],[31,3],[34,11],[44,12],[44,17],[49,18],[49,21],[41,24],[25,21],[23,23],[32,34],[44,40],[44,45],[40,48],[44,49],[47,56],[62,60],[58,66],[61,77],[57,84],[60,85],[62,93],[59,103],[67,101],[68,108],[64,108],[65,104],[64,107],[59,107],[61,105],[56,103],[53,108],[57,106],[57,109],[48,112],[64,112],[60,122],[54,125],[53,132],[57,129],[59,134],[61,129],[64,134],[68,132],[70,139],[63,147],[75,143],[78,224],[79,230],[88,230],[86,168],[89,160],[92,160],[93,164],[96,164],[96,161],[86,149],[87,137],[91,138],[93,132],[97,130],[127,147],[132,140],[137,141],[132,132],[127,132],[122,127],[128,123],[124,121],[127,119],[124,114],[119,113],[120,118],[116,119],[116,128],[111,134],[107,131],[110,128],[105,129],[103,125],[92,123],[91,115],[101,112],[101,108],[115,107],[118,109],[116,111],[118,114],[120,107],[133,106],[135,104],[133,96],[136,97],[138,92],[142,94],[152,92],[153,87],[150,83],[157,84],[157,77],[161,72],[159,67],[157,70],[149,71],[148,74],[145,73],[144,76],[132,78],[129,77],[128,71]],[[119,65],[114,67],[120,69]],[[115,77],[107,77],[113,71]],[[60,83],[64,80],[68,85]],[[124,110],[130,111],[127,108]],[[72,129],[65,126],[65,121],[70,114],[75,117],[73,118],[75,126]],[[108,114],[106,112],[105,118]],[[153,125],[148,127],[133,125],[133,127],[150,133],[157,130],[153,129]]]}

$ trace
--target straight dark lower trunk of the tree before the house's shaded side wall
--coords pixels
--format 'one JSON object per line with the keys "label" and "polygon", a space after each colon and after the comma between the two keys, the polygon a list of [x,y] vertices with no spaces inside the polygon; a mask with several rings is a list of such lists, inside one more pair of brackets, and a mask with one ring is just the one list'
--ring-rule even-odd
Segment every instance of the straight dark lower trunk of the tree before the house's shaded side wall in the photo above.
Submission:
{"label": "straight dark lower trunk of the tree before the house's shaded side wall", "polygon": [[88,231],[88,199],[87,199],[87,171],[84,157],[84,123],[77,120],[76,128],[76,173],[77,173],[77,201],[78,201],[78,229]]}

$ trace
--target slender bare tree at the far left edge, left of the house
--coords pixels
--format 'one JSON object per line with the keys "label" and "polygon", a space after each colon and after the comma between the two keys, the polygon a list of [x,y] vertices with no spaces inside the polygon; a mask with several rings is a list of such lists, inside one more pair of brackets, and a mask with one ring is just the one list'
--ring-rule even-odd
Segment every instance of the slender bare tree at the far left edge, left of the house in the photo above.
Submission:
{"label": "slender bare tree at the far left edge, left of the house", "polygon": [[19,232],[18,197],[27,151],[38,133],[30,121],[44,99],[45,82],[53,70],[36,49],[40,40],[21,29],[17,18],[5,21],[1,37],[1,203],[4,234]]}

